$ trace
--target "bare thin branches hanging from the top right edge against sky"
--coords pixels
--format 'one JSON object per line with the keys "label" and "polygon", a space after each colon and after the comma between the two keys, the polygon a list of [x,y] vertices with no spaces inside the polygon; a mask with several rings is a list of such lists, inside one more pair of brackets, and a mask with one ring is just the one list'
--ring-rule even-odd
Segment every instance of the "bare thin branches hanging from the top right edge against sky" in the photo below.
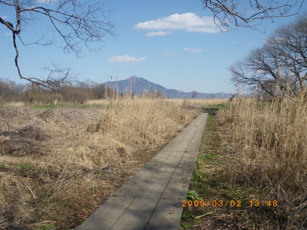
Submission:
{"label": "bare thin branches hanging from the top right edge against sky", "polygon": [[204,8],[214,13],[214,22],[222,31],[233,30],[232,25],[257,29],[263,19],[274,22],[276,17],[299,13],[304,0],[201,0]]}

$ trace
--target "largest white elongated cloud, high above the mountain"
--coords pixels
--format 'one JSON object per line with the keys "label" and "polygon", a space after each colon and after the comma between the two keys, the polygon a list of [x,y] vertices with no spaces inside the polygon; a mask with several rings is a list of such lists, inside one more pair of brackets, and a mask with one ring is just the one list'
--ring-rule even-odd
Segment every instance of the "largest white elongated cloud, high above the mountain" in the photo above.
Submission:
{"label": "largest white elongated cloud, high above the mountain", "polygon": [[137,25],[134,25],[134,29],[159,31],[155,33],[175,30],[203,33],[217,33],[220,31],[220,29],[214,24],[213,17],[199,17],[196,13],[176,13],[153,21],[139,22]]}

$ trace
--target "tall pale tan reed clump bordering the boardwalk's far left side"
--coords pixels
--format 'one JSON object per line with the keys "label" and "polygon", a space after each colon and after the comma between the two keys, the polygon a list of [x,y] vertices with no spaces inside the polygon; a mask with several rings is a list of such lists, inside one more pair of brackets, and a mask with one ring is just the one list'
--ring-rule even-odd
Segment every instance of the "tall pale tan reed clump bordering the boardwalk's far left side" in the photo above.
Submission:
{"label": "tall pale tan reed clump bordering the boardwalk's far left side", "polygon": [[110,109],[103,109],[87,131],[117,143],[116,151],[121,156],[163,142],[170,130],[183,129],[192,115],[176,104],[148,97],[120,98],[107,107]]}

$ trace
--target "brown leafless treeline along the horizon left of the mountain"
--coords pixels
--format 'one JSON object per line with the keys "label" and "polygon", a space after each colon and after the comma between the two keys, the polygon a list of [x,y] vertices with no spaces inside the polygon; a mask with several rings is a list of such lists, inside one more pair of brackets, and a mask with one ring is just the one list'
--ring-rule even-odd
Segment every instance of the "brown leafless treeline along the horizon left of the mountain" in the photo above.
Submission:
{"label": "brown leafless treeline along the horizon left of the mountain", "polygon": [[[130,92],[129,95],[133,97],[135,93]],[[58,90],[53,91],[42,86],[32,86],[31,83],[22,84],[7,78],[0,78],[0,103],[21,101],[29,105],[53,104],[57,102],[83,104],[88,100],[122,96],[123,94],[119,94],[115,89],[90,79],[63,85]],[[146,92],[146,96],[152,98],[163,97],[159,92]]]}

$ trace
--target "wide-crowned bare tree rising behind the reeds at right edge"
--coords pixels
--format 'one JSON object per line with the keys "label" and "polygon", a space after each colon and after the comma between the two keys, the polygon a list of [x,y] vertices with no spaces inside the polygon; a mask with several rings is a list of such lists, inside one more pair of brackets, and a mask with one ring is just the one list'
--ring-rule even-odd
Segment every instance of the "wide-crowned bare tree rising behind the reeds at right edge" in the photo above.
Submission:
{"label": "wide-crowned bare tree rising behind the reeds at right edge", "polygon": [[307,81],[307,13],[279,26],[262,47],[228,67],[235,84],[258,87],[273,97],[283,90],[299,93]]}

